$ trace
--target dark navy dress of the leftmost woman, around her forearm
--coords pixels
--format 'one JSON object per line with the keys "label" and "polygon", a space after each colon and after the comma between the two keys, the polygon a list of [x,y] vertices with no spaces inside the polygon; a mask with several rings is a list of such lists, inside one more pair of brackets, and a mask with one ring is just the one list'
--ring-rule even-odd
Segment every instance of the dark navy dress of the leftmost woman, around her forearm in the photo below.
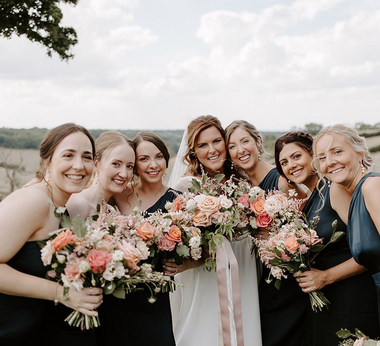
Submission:
{"label": "dark navy dress of the leftmost woman, around her forearm", "polygon": [[[41,260],[37,241],[26,242],[7,264],[23,273],[45,277],[47,267]],[[47,319],[46,300],[0,293],[0,345],[16,346],[44,339]]]}

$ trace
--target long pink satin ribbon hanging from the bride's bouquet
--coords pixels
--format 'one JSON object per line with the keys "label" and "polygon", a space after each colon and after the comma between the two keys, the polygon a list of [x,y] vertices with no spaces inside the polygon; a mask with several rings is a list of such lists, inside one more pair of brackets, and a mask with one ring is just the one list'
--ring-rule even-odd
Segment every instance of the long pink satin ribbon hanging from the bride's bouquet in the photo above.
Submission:
{"label": "long pink satin ribbon hanging from the bride's bouquet", "polygon": [[237,346],[244,346],[238,261],[232,251],[230,242],[225,238],[222,246],[218,247],[216,253],[216,273],[218,278],[219,305],[224,346],[231,346],[232,332],[230,330],[230,313],[228,309],[227,293],[227,280],[229,280],[229,278],[227,278],[226,268],[228,268],[228,266],[231,270],[231,291],[234,304],[234,321],[238,342]]}

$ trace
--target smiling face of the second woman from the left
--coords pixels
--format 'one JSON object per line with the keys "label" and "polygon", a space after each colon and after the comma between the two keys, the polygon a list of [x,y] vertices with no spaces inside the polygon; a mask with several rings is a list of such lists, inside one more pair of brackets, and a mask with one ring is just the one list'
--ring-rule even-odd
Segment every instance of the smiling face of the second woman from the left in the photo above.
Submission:
{"label": "smiling face of the second woman from the left", "polygon": [[96,166],[102,189],[110,194],[120,193],[131,180],[135,152],[128,143],[120,144],[104,153]]}

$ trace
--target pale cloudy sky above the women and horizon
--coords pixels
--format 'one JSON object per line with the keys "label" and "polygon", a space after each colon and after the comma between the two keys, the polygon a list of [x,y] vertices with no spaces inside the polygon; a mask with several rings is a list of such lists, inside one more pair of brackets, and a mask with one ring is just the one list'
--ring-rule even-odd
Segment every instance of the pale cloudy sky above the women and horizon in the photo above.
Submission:
{"label": "pale cloudy sky above the women and horizon", "polygon": [[379,0],[79,0],[68,63],[0,38],[0,127],[380,122]]}

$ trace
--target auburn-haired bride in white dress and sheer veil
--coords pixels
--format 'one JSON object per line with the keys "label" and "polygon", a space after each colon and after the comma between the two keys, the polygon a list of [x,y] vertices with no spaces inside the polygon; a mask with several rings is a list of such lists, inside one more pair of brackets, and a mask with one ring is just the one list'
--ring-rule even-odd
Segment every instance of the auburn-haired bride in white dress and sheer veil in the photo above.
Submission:
{"label": "auburn-haired bride in white dress and sheer veil", "polygon": [[[184,159],[184,160],[182,160]],[[185,166],[185,163],[187,164]],[[169,186],[182,192],[191,187],[191,179],[200,179],[202,169],[209,176],[231,175],[227,161],[224,131],[213,116],[201,116],[190,122],[184,133]],[[185,173],[185,174],[184,174]],[[243,339],[246,346],[261,346],[260,312],[256,260],[251,258],[252,240],[246,235],[231,241],[238,261]],[[234,306],[229,299],[231,340],[223,342],[219,308],[217,273],[208,272],[201,260],[176,265],[165,262],[166,274],[180,283],[170,296],[173,328],[177,346],[240,346],[235,329]],[[230,292],[230,291],[229,291]],[[230,298],[230,297],[229,297]],[[240,337],[242,341],[242,336]]]}

